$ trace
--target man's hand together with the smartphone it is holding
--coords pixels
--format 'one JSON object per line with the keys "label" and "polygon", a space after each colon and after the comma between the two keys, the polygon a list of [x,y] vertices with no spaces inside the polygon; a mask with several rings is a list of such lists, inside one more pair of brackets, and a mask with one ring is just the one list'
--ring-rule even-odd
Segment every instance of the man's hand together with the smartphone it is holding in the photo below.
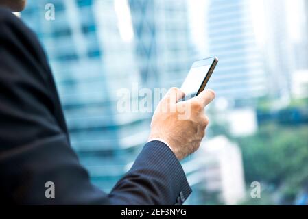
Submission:
{"label": "man's hand together with the smartphone it is holding", "polygon": [[[154,112],[149,141],[161,139],[179,160],[195,152],[204,137],[204,130],[209,124],[209,118],[204,113],[204,107],[213,101],[215,94],[211,92],[202,93],[202,91],[217,62],[217,57],[194,62],[182,87],[180,89],[171,88]],[[186,94],[185,99],[178,103],[178,98],[183,96],[183,92]],[[170,96],[174,98],[170,98]],[[195,96],[197,97],[194,100],[185,101],[187,98]],[[166,111],[166,106],[170,110]],[[192,111],[193,113],[191,113]],[[168,118],[167,123],[166,118]],[[191,123],[187,123],[187,120]]]}

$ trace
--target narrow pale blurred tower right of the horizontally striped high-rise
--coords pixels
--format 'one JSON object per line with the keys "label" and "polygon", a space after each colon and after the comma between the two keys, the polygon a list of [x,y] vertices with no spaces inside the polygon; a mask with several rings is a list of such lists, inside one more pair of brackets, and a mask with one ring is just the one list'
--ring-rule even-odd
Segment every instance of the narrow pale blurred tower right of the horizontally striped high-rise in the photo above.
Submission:
{"label": "narrow pale blurred tower right of the horizontally striped high-rise", "polygon": [[286,2],[263,1],[263,7],[265,16],[263,31],[268,33],[263,42],[263,50],[269,73],[270,95],[289,98],[291,91],[289,81],[294,70],[294,47],[289,43]]}

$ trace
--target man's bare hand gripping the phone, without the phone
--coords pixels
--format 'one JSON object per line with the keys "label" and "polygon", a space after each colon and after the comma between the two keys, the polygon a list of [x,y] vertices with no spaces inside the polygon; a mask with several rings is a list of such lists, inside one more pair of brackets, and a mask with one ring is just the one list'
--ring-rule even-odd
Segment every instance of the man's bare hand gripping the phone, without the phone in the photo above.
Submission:
{"label": "man's bare hand gripping the phone, without the phone", "polygon": [[213,101],[215,93],[204,90],[193,99],[178,102],[184,96],[178,88],[167,92],[154,112],[149,137],[149,141],[159,138],[167,142],[179,160],[199,148],[209,124],[204,107]]}

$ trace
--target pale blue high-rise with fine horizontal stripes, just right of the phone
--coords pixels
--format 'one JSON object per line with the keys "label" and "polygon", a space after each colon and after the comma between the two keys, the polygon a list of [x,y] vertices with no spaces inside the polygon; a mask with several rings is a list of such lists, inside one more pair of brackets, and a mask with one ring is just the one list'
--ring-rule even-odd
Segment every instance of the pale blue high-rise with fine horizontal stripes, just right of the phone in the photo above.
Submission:
{"label": "pale blue high-rise with fine horizontal stripes, just right of the phone", "polygon": [[208,53],[220,59],[209,87],[217,98],[235,101],[235,105],[245,100],[241,103],[249,105],[268,94],[251,1],[210,0],[206,8]]}

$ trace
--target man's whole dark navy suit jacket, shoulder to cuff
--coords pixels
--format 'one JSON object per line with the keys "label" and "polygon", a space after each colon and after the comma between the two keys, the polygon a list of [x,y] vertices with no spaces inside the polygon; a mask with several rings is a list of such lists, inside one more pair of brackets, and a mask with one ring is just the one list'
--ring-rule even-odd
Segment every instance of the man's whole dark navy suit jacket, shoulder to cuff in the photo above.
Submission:
{"label": "man's whole dark navy suit jacket, shoulder to cuff", "polygon": [[[45,197],[47,181],[55,198]],[[71,149],[38,39],[0,8],[0,203],[174,205],[190,192],[174,153],[159,141],[145,144],[110,194],[92,185]]]}

